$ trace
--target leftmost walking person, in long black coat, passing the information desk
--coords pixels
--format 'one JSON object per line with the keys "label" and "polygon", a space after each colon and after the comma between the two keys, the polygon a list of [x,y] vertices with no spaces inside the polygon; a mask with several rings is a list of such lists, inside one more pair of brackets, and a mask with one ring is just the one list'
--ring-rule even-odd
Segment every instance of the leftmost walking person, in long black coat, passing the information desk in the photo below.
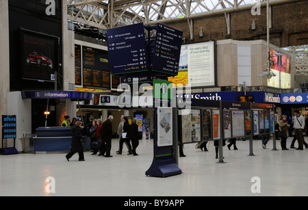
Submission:
{"label": "leftmost walking person, in long black coat, passing the information desk", "polygon": [[70,152],[65,156],[67,161],[70,161],[69,159],[73,157],[75,153],[78,153],[79,155],[79,161],[84,161],[84,148],[81,144],[81,124],[82,122],[77,121],[73,127],[71,127],[72,131],[72,142],[70,144]]}

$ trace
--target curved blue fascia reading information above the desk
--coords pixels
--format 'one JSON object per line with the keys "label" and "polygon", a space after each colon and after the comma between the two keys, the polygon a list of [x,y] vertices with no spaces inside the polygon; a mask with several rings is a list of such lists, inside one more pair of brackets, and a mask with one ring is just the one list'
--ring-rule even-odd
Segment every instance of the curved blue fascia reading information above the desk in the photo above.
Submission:
{"label": "curved blue fascia reading information above the desk", "polygon": [[73,99],[73,100],[92,100],[92,92],[75,91],[24,91],[21,92],[23,99]]}

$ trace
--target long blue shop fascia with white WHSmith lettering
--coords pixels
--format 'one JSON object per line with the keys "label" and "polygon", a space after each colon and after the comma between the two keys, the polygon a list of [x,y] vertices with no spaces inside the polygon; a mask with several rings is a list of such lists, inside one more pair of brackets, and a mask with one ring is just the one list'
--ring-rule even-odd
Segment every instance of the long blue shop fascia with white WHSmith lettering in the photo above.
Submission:
{"label": "long blue shop fascia with white WHSmith lettering", "polygon": [[[280,94],[270,92],[246,92],[247,96],[253,96],[254,103],[280,103]],[[212,101],[239,101],[240,96],[244,96],[244,92],[203,92],[184,95],[192,99],[204,99]]]}

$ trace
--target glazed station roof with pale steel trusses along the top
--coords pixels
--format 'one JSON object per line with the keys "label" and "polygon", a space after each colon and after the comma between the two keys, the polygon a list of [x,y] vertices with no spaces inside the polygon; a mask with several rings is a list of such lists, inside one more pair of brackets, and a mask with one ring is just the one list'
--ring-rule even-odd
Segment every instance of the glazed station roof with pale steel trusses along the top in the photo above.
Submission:
{"label": "glazed station roof with pale steel trusses along the top", "polygon": [[[68,20],[98,29],[153,24],[251,9],[266,0],[66,0]],[[292,0],[270,0],[270,5]],[[72,12],[73,7],[73,12]],[[84,26],[82,26],[84,27]],[[86,27],[85,27],[86,29]]]}

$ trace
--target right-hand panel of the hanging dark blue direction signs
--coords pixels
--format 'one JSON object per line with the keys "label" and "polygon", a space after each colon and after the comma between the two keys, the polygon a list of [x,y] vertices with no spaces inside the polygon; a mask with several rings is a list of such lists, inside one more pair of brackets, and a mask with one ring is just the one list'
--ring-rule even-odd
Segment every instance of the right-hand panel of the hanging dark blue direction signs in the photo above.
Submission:
{"label": "right-hand panel of the hanging dark blue direction signs", "polygon": [[182,37],[182,31],[157,24],[153,71],[168,75],[178,74]]}

